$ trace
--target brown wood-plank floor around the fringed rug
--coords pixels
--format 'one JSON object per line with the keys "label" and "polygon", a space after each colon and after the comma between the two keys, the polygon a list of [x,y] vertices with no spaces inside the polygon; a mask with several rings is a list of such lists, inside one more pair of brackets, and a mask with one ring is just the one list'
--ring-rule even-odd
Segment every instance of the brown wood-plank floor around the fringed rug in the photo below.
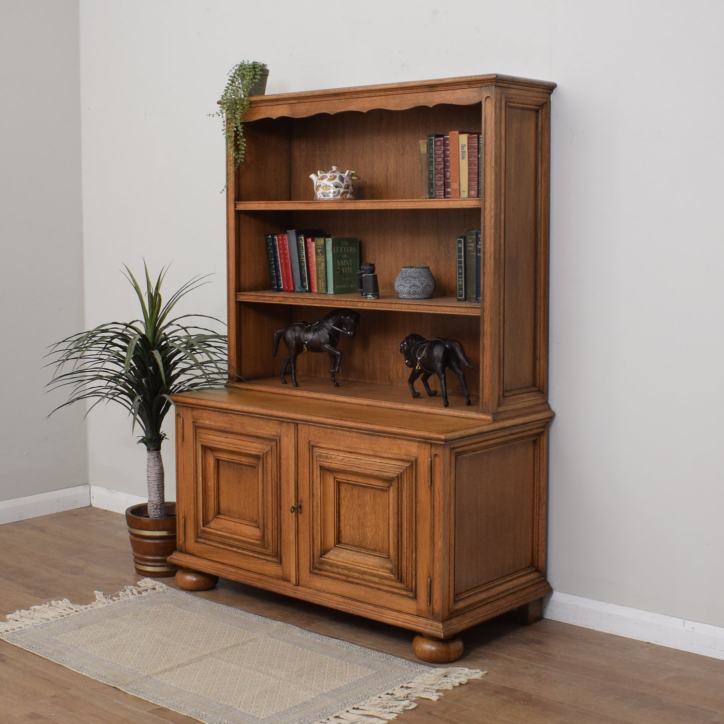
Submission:
{"label": "brown wood-plank floor around the fringed rug", "polygon": [[[135,584],[122,515],[96,508],[0,526],[0,613]],[[164,581],[174,585],[173,578]],[[329,636],[413,658],[412,634],[220,581],[204,597]],[[461,666],[481,681],[422,701],[397,724],[724,724],[724,661],[556,621],[510,616],[463,634]],[[0,641],[3,724],[163,724],[195,720],[124,694]]]}

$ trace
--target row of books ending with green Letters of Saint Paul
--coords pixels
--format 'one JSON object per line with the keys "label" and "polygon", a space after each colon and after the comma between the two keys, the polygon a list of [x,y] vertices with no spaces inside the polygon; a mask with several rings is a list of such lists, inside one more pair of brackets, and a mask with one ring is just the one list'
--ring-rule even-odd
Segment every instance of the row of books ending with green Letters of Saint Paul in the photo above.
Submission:
{"label": "row of books ending with green Letters of Saint Paul", "polygon": [[360,240],[319,229],[264,235],[271,290],[348,294],[358,290]]}

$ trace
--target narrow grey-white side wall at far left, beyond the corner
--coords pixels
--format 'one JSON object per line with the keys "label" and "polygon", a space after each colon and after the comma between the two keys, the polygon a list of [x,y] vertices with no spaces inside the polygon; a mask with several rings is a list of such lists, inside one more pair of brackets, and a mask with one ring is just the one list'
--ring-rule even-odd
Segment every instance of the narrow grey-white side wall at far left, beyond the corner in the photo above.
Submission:
{"label": "narrow grey-white side wall at far left, beyond the corner", "polygon": [[83,324],[77,0],[0,2],[0,501],[87,484],[47,347]]}

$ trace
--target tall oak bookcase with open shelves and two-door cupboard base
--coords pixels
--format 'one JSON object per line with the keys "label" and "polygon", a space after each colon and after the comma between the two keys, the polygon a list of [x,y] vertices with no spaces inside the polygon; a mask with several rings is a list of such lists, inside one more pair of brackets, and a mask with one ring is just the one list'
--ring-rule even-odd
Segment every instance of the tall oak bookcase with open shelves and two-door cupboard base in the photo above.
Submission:
{"label": "tall oak bookcase with open shelves and two-door cupboard base", "polygon": [[[508,610],[542,615],[545,578],[550,94],[479,75],[252,99],[227,188],[229,355],[223,390],[177,395],[180,586],[218,576],[415,631],[430,662]],[[481,198],[419,198],[419,141],[481,133]],[[309,174],[354,169],[358,198],[313,200]],[[379,300],[269,291],[264,235],[358,237]],[[455,237],[482,230],[481,303],[458,302]],[[429,300],[401,300],[402,266]],[[327,355],[282,384],[274,331],[354,308],[333,387]],[[463,343],[472,405],[413,399],[400,342]],[[283,348],[282,348],[283,350]],[[431,382],[434,377],[431,378]],[[419,383],[418,383],[419,387]]]}

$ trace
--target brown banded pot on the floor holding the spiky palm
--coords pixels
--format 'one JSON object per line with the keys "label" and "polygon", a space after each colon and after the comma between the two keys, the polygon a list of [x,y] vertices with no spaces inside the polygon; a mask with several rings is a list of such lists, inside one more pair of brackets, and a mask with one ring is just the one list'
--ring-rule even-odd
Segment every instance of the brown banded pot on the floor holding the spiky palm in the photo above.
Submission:
{"label": "brown banded pot on the floor holding the spiky palm", "polygon": [[126,510],[126,524],[131,539],[136,573],[149,578],[174,576],[177,565],[167,563],[176,550],[176,503],[167,502],[166,518],[148,518],[148,505],[131,505]]}

